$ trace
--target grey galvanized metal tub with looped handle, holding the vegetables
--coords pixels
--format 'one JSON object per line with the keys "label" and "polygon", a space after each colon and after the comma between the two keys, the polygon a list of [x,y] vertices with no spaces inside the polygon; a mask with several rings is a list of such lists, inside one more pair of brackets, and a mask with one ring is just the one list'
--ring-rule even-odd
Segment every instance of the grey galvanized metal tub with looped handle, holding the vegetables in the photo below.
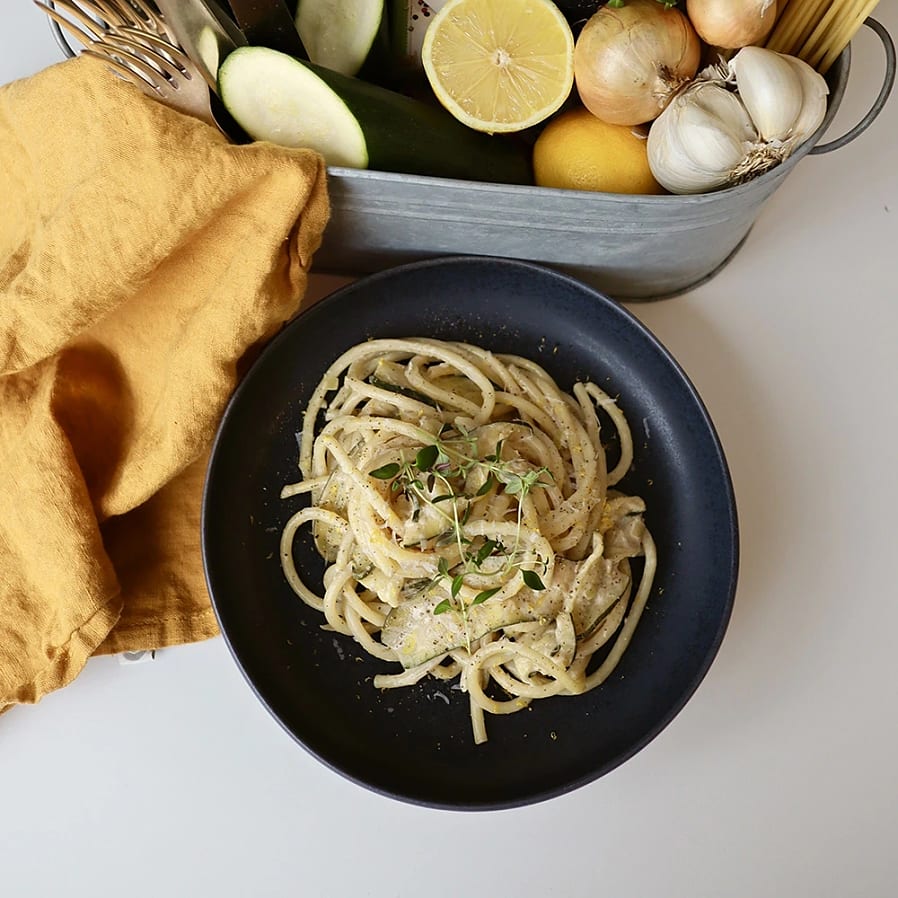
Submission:
{"label": "grey galvanized metal tub with looped handle, holding the vegetables", "polygon": [[541,262],[627,300],[658,299],[713,277],[739,250],[762,206],[807,155],[861,134],[885,105],[895,47],[880,37],[886,77],[864,119],[843,137],[818,141],[839,108],[850,48],[830,69],[829,106],[817,133],[759,178],[700,196],[624,196],[456,181],[379,171],[329,169],[331,220],[317,271],[366,274],[445,254]]}

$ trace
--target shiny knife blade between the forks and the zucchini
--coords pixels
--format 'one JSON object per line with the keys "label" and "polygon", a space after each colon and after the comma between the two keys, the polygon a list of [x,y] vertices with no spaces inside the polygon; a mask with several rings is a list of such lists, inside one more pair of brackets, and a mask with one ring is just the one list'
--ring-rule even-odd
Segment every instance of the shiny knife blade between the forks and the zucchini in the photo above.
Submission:
{"label": "shiny knife blade between the forks and the zucchini", "polygon": [[214,0],[156,0],[156,6],[176,42],[217,91],[219,63],[246,44],[243,32]]}

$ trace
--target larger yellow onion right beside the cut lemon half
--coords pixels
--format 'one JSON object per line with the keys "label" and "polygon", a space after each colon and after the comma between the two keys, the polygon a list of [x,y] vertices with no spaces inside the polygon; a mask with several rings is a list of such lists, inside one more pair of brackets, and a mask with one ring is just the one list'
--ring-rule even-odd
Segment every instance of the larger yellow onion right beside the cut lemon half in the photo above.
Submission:
{"label": "larger yellow onion right beside the cut lemon half", "polygon": [[657,118],[698,71],[701,41],[683,13],[658,0],[602,7],[574,48],[574,79],[583,105],[614,125]]}

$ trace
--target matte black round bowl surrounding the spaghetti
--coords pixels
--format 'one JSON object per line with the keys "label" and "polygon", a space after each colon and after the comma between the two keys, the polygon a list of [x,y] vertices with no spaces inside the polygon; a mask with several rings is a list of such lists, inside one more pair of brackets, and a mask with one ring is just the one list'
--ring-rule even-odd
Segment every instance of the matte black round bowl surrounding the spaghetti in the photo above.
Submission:
{"label": "matte black round bowl surrounding the spaghetti", "polygon": [[[371,337],[430,336],[513,352],[570,389],[619,394],[635,461],[622,484],[646,500],[658,546],[655,586],[612,677],[586,695],[488,715],[473,743],[467,698],[448,684],[380,691],[393,665],[290,590],[278,541],[295,500],[297,431],[322,372]],[[367,277],[314,305],[271,342],[221,422],[203,498],[203,558],[218,621],[244,675],[315,757],[385,795],[442,808],[530,804],[596,779],[654,738],[708,670],[732,610],[738,530],[714,427],[686,375],[613,300],[537,265],[453,257]],[[321,562],[297,539],[297,567]]]}

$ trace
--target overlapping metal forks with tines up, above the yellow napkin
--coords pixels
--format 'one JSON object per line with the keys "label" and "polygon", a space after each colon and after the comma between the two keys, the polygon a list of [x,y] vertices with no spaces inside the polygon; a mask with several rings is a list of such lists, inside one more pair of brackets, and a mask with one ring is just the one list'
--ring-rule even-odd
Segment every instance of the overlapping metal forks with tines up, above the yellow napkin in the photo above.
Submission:
{"label": "overlapping metal forks with tines up, above the yellow napkin", "polygon": [[33,2],[84,46],[82,53],[102,59],[149,96],[221,130],[199,69],[143,0]]}

